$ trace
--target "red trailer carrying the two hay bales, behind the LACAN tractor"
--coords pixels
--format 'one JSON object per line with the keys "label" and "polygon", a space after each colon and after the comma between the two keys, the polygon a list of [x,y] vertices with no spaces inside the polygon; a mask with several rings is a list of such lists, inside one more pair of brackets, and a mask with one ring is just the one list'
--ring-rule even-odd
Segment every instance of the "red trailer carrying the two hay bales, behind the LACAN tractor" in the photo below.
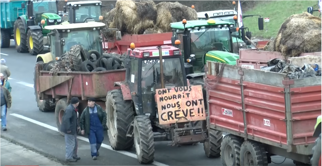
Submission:
{"label": "red trailer carrying the two hay bales, behind the LACAN tractor", "polygon": [[121,40],[106,40],[102,44],[107,53],[123,54],[130,48],[131,43],[134,43],[136,47],[171,46],[171,36],[172,32],[142,35],[126,34],[122,36]]}

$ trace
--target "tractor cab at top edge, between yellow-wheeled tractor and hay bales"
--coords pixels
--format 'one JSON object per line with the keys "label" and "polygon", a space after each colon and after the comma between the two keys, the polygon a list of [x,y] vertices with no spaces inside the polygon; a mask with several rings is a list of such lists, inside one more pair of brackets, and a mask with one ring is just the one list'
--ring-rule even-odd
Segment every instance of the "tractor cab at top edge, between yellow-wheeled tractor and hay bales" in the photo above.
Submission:
{"label": "tractor cab at top edge, between yellow-wheeled tractor and hay bales", "polygon": [[68,12],[68,22],[65,23],[83,23],[89,20],[100,21],[102,16],[101,1],[77,1],[66,2],[64,13]]}

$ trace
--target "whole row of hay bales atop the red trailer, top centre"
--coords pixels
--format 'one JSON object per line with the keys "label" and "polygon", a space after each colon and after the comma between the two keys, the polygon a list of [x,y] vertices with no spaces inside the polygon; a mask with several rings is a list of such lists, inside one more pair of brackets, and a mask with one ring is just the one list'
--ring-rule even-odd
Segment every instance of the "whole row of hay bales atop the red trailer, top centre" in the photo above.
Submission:
{"label": "whole row of hay bales atop the red trailer, top centre", "polygon": [[[103,13],[108,28],[117,28],[122,34],[149,34],[171,32],[170,23],[183,19],[198,20],[197,12],[178,2],[117,1],[115,8]],[[113,37],[107,32],[105,37]]]}

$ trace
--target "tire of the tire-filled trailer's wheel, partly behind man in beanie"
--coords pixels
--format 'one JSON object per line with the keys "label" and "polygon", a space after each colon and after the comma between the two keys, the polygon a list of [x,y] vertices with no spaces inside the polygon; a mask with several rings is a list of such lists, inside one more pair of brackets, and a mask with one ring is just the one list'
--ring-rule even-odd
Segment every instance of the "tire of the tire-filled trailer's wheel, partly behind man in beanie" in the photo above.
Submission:
{"label": "tire of the tire-filled trailer's wheel, partly behind man in beanie", "polygon": [[61,126],[62,126],[62,116],[65,113],[65,110],[68,106],[67,98],[63,98],[58,100],[55,108],[55,121],[58,131],[61,135],[65,135],[65,133],[61,132]]}

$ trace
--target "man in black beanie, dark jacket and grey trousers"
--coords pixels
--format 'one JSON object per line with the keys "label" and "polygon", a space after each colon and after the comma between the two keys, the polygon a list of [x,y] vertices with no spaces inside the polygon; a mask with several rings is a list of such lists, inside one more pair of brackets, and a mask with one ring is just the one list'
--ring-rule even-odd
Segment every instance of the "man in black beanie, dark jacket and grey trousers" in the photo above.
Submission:
{"label": "man in black beanie, dark jacket and grey trousers", "polygon": [[77,157],[78,104],[79,99],[77,97],[71,98],[71,104],[66,107],[62,117],[61,131],[65,133],[65,157],[67,162],[77,162],[81,159]]}

